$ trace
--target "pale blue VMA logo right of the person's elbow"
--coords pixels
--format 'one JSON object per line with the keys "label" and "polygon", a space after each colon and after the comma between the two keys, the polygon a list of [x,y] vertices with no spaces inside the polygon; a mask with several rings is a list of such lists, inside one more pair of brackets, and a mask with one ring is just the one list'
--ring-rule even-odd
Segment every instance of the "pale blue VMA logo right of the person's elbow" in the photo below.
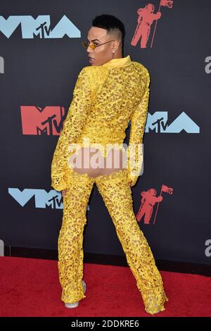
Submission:
{"label": "pale blue VMA logo right of the person's elbow", "polygon": [[184,130],[186,133],[199,133],[200,127],[189,118],[184,111],[168,124],[167,111],[156,111],[153,115],[148,113],[145,132],[155,131],[156,133],[180,133]]}

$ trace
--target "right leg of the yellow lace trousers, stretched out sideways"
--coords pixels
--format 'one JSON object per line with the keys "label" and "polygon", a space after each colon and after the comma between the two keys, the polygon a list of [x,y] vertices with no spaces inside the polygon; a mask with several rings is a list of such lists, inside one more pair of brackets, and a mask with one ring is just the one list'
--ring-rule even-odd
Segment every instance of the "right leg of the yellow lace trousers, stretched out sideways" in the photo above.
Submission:
{"label": "right leg of the yellow lace trousers, stretched out sideways", "polygon": [[132,191],[127,179],[127,169],[96,177],[103,201],[108,208],[117,237],[127,258],[129,268],[136,278],[145,309],[148,313],[163,311],[167,300],[162,277],[133,210]]}

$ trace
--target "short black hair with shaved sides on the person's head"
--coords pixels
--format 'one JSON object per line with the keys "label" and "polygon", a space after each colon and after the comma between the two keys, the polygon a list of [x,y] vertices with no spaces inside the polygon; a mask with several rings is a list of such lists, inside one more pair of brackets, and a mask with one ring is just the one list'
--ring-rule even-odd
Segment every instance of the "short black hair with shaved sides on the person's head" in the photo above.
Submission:
{"label": "short black hair with shaved sides on the person's head", "polygon": [[113,30],[118,29],[121,32],[121,41],[122,41],[122,51],[124,48],[124,37],[125,37],[125,28],[124,23],[122,23],[119,18],[116,18],[113,15],[102,14],[98,15],[92,21],[92,26],[101,27],[106,29],[108,32],[113,32]]}

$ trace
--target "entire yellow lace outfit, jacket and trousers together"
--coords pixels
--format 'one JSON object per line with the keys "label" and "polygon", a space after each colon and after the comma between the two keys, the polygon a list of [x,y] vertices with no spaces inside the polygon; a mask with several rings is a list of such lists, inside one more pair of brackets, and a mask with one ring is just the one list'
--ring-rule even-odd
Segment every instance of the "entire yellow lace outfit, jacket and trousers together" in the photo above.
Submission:
{"label": "entire yellow lace outfit, jacket and trousers together", "polygon": [[[58,271],[63,288],[61,299],[74,303],[86,296],[83,292],[83,231],[91,189],[98,191],[113,220],[117,237],[136,278],[145,309],[154,314],[164,311],[167,296],[162,277],[155,266],[151,248],[140,230],[133,210],[132,189],[138,178],[132,168],[124,168],[110,175],[89,177],[68,166],[72,151],[70,144],[82,144],[89,138],[91,144],[122,144],[125,130],[131,120],[129,144],[143,139],[149,97],[148,70],[131,61],[117,58],[101,66],[85,67],[79,73],[73,99],[58,138],[51,166],[52,186],[63,196],[63,223],[58,237]],[[107,155],[104,151],[104,157]],[[138,151],[135,153],[138,159]],[[138,161],[141,169],[142,161]]]}

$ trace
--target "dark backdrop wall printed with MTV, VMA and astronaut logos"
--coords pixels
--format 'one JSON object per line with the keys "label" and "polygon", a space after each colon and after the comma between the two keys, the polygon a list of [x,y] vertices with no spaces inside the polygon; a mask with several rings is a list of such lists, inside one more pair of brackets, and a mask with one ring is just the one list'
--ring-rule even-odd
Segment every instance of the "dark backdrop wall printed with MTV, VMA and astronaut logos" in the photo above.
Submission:
{"label": "dark backdrop wall printed with MTV, VMA and astronaut logos", "polygon": [[[210,11],[209,0],[0,1],[0,255],[57,249],[53,151],[89,65],[81,42],[106,13],[125,25],[123,56],[151,75],[143,174],[132,187],[137,223],[156,259],[210,264]],[[124,256],[95,184],[84,251]]]}

